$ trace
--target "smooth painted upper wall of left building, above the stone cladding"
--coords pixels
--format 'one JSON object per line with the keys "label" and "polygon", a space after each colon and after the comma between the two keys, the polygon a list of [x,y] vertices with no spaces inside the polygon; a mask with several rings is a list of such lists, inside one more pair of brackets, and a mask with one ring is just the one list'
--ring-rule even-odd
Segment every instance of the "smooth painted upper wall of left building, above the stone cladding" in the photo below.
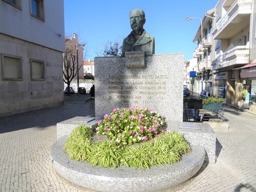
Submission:
{"label": "smooth painted upper wall of left building, above the stone cladding", "polygon": [[44,0],[45,21],[30,14],[31,1],[20,2],[22,10],[0,1],[0,33],[65,52],[63,0]]}

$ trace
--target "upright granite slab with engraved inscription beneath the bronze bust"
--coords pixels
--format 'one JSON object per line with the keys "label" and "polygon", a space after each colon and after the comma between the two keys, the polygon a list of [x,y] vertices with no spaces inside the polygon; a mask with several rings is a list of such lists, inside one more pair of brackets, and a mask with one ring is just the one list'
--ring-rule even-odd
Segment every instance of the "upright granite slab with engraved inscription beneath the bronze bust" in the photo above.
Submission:
{"label": "upright granite slab with engraved inscription beneath the bronze bust", "polygon": [[144,67],[131,66],[126,59],[95,58],[96,118],[114,108],[140,106],[159,112],[167,121],[182,122],[183,54],[146,56]]}

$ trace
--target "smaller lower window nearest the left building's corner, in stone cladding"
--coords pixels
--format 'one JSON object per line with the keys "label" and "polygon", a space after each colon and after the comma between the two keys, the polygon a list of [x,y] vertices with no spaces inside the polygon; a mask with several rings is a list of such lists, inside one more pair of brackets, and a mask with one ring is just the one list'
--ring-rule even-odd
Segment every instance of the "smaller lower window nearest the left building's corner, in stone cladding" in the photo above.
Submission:
{"label": "smaller lower window nearest the left building's corner, in stone cladding", "polygon": [[45,63],[37,60],[30,60],[31,80],[45,80]]}

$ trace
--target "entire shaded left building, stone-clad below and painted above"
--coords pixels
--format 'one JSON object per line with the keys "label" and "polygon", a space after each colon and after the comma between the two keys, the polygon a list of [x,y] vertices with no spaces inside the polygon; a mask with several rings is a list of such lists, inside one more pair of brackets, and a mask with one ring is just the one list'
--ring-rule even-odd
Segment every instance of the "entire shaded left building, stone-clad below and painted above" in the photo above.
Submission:
{"label": "entire shaded left building, stone-clad below and painted above", "polygon": [[0,0],[0,18],[0,117],[61,105],[63,0]]}

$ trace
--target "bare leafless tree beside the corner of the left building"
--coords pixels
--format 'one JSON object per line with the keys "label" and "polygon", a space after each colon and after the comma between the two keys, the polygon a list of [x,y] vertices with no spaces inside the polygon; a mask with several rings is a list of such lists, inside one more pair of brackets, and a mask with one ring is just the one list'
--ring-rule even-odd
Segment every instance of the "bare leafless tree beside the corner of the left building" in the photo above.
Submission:
{"label": "bare leafless tree beside the corner of the left building", "polygon": [[[74,34],[74,37],[66,36],[65,38],[65,53],[63,53],[63,81],[68,85],[68,95],[70,95],[70,83],[76,77],[77,70],[79,70],[83,65],[78,66],[77,69],[77,55],[83,52],[83,48],[78,45],[82,45],[78,41],[78,35]],[[86,43],[83,43],[86,45]],[[83,58],[83,57],[82,57]],[[83,61],[83,60],[81,60]]]}

